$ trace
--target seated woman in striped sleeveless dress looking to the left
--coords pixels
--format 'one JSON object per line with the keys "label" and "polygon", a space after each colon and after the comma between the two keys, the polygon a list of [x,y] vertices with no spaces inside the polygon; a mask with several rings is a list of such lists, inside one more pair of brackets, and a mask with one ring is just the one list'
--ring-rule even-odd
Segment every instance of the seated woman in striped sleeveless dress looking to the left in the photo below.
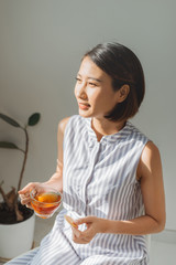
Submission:
{"label": "seated woman in striped sleeveless dress looking to the left", "polygon": [[58,125],[56,173],[19,191],[30,205],[31,188],[54,187],[64,210],[38,250],[9,264],[146,265],[145,235],[164,229],[165,202],[160,151],[128,120],[144,97],[141,63],[121,44],[99,44],[76,80],[79,115]]}

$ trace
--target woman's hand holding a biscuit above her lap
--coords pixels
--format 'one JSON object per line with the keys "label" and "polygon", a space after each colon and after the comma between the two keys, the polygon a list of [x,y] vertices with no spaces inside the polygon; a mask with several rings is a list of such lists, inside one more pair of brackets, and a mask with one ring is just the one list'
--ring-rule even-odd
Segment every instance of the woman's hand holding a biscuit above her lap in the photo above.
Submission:
{"label": "woman's hand holding a biscuit above her lap", "polygon": [[75,224],[80,225],[86,223],[87,229],[79,231],[73,227],[73,241],[77,244],[88,244],[97,233],[103,233],[105,220],[96,216],[87,216],[74,221]]}

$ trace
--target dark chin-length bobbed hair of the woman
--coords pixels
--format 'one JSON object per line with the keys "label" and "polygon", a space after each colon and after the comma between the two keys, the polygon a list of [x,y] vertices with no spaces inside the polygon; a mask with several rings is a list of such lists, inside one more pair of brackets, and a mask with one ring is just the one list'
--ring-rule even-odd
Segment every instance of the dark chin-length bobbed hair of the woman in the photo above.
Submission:
{"label": "dark chin-length bobbed hair of the woman", "polygon": [[107,119],[127,120],[134,116],[144,98],[145,81],[140,60],[127,46],[119,43],[98,44],[88,51],[84,57],[89,56],[92,62],[112,78],[113,91],[123,85],[130,86],[125,100],[119,103],[107,114]]}

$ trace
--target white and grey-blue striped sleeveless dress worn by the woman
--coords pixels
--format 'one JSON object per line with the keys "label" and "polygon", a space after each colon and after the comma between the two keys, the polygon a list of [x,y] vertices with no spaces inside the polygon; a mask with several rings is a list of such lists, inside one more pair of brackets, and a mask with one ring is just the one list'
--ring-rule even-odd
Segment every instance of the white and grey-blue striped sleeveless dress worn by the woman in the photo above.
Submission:
{"label": "white and grey-blue striped sleeveless dress worn by the woman", "polygon": [[[88,215],[131,220],[144,213],[136,169],[148,139],[130,121],[97,141],[91,118],[69,118],[64,136],[63,205],[53,230],[36,251],[22,256],[28,265],[146,265],[144,235],[97,234],[88,244],[72,240],[73,219]],[[85,230],[81,225],[80,230]],[[14,259],[15,261],[15,259]],[[9,263],[18,264],[18,263]]]}

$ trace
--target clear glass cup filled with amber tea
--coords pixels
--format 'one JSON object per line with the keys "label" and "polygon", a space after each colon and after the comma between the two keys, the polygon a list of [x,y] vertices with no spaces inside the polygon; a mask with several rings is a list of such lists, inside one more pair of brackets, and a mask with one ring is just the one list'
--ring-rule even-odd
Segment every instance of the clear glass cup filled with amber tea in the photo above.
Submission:
{"label": "clear glass cup filled with amber tea", "polygon": [[62,204],[62,193],[53,188],[44,189],[42,192],[33,189],[30,197],[35,214],[42,219],[51,218]]}

